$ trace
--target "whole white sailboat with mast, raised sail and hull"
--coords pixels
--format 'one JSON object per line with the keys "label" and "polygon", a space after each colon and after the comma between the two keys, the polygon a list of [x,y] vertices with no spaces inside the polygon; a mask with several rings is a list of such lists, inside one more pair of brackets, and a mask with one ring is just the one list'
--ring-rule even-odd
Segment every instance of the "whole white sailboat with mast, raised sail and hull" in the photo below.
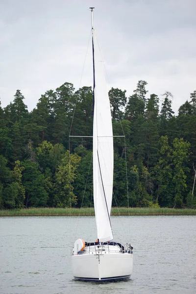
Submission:
{"label": "whole white sailboat with mast, raised sail and hull", "polygon": [[129,279],[133,268],[133,247],[114,241],[110,214],[113,194],[113,130],[104,66],[95,38],[93,9],[92,48],[94,74],[93,194],[97,225],[96,242],[77,239],[72,251],[74,279],[108,282]]}

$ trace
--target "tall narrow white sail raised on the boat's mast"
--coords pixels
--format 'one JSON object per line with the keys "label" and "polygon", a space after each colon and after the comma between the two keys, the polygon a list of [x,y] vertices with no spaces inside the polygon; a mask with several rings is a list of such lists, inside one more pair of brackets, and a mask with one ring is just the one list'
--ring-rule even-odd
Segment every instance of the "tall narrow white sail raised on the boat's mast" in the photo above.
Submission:
{"label": "tall narrow white sail raised on the boat's mast", "polygon": [[113,193],[113,132],[104,64],[98,42],[94,43],[94,122],[93,122],[93,187],[98,240],[113,240],[110,212]]}

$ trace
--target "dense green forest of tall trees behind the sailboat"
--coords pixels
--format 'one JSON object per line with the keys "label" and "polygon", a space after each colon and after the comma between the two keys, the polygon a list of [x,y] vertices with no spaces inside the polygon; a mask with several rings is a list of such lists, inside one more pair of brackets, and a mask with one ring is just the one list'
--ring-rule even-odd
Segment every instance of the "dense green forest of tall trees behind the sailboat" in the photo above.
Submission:
{"label": "dense green forest of tall trees behind the sailboat", "polygon": [[[113,206],[127,206],[128,188],[131,207],[196,208],[196,91],[174,116],[172,94],[146,87],[109,91],[114,136],[125,135],[114,138]],[[93,206],[92,138],[69,137],[92,133],[91,87],[64,83],[31,112],[17,90],[0,106],[0,208]]]}

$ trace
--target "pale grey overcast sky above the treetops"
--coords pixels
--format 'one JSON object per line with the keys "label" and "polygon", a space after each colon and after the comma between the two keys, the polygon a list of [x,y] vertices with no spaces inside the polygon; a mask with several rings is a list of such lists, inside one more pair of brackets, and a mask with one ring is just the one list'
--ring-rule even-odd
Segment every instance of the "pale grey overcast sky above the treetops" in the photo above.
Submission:
{"label": "pale grey overcast sky above the treetops", "polygon": [[0,100],[17,89],[32,110],[64,82],[92,85],[91,15],[111,87],[147,97],[173,94],[173,110],[196,90],[196,0],[0,0]]}

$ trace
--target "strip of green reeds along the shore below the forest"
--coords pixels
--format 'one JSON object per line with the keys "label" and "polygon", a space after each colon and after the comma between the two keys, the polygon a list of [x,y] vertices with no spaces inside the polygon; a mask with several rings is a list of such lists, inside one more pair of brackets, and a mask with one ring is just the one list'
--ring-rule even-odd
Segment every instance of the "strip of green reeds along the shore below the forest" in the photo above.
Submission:
{"label": "strip of green reeds along the shore below the forest", "polygon": [[[0,217],[5,216],[93,216],[94,208],[27,208],[0,210]],[[196,215],[196,209],[120,207],[112,208],[112,215],[154,216],[154,215]]]}

